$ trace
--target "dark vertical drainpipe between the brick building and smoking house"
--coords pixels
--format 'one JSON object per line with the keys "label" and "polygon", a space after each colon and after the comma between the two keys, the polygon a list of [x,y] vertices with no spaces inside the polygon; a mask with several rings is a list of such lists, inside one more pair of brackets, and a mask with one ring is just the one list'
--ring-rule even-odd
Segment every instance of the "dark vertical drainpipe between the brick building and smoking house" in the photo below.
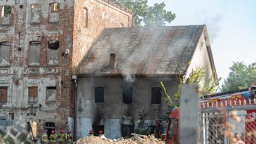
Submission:
{"label": "dark vertical drainpipe between the brick building and smoking house", "polygon": [[74,80],[74,123],[73,123],[73,141],[76,141],[76,101],[77,101],[77,76],[72,75]]}

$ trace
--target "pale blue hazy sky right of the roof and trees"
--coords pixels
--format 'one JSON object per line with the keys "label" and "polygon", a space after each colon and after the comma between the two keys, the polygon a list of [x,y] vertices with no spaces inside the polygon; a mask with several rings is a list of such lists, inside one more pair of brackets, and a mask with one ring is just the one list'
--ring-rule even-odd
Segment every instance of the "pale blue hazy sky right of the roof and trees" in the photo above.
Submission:
{"label": "pale blue hazy sky right of the roof and trees", "polygon": [[233,62],[256,62],[255,0],[148,0],[176,14],[168,25],[206,25],[217,76],[228,77]]}

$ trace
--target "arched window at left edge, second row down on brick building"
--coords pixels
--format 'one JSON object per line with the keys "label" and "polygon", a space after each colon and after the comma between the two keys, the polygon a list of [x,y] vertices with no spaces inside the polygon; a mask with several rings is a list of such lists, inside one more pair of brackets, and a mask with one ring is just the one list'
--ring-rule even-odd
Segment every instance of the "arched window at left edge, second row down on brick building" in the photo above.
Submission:
{"label": "arched window at left edge, second row down on brick building", "polygon": [[9,57],[11,52],[11,43],[1,42],[0,43],[0,65],[6,66],[9,65]]}

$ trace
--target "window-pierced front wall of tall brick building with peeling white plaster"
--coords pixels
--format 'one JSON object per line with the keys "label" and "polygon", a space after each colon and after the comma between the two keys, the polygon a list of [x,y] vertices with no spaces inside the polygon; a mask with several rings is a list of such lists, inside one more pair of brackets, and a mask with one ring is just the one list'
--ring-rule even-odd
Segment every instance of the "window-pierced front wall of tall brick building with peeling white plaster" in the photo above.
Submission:
{"label": "window-pierced front wall of tall brick building with peeling white plaster", "polygon": [[[59,18],[56,23],[49,23],[50,3],[60,4]],[[34,23],[35,19],[32,15],[35,14],[32,14],[32,4],[40,4],[40,23]],[[12,8],[11,23],[0,26],[0,40],[10,42],[11,46],[10,64],[6,67],[0,66],[0,86],[8,87],[8,102],[1,103],[0,116],[12,119],[11,113],[14,113],[15,123],[37,121],[39,133],[43,132],[45,122],[56,123],[57,129],[67,128],[68,118],[72,116],[73,104],[70,97],[73,40],[73,25],[70,24],[73,23],[73,1],[0,1],[0,9],[4,5],[10,5]],[[59,40],[58,65],[47,65],[49,40]],[[28,65],[31,41],[41,43],[39,66]],[[70,53],[63,57],[61,53],[66,49],[70,50]],[[28,102],[30,86],[38,87],[38,102]],[[51,86],[56,87],[55,100],[52,97],[46,99],[46,87]]]}

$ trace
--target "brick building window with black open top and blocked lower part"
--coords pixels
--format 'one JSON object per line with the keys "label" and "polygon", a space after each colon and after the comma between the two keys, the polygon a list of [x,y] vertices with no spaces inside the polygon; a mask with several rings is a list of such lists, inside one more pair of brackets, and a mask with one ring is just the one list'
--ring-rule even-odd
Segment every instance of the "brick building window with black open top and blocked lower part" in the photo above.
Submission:
{"label": "brick building window with black open top and blocked lower part", "polygon": [[58,65],[58,48],[58,40],[51,40],[48,42],[47,65]]}

